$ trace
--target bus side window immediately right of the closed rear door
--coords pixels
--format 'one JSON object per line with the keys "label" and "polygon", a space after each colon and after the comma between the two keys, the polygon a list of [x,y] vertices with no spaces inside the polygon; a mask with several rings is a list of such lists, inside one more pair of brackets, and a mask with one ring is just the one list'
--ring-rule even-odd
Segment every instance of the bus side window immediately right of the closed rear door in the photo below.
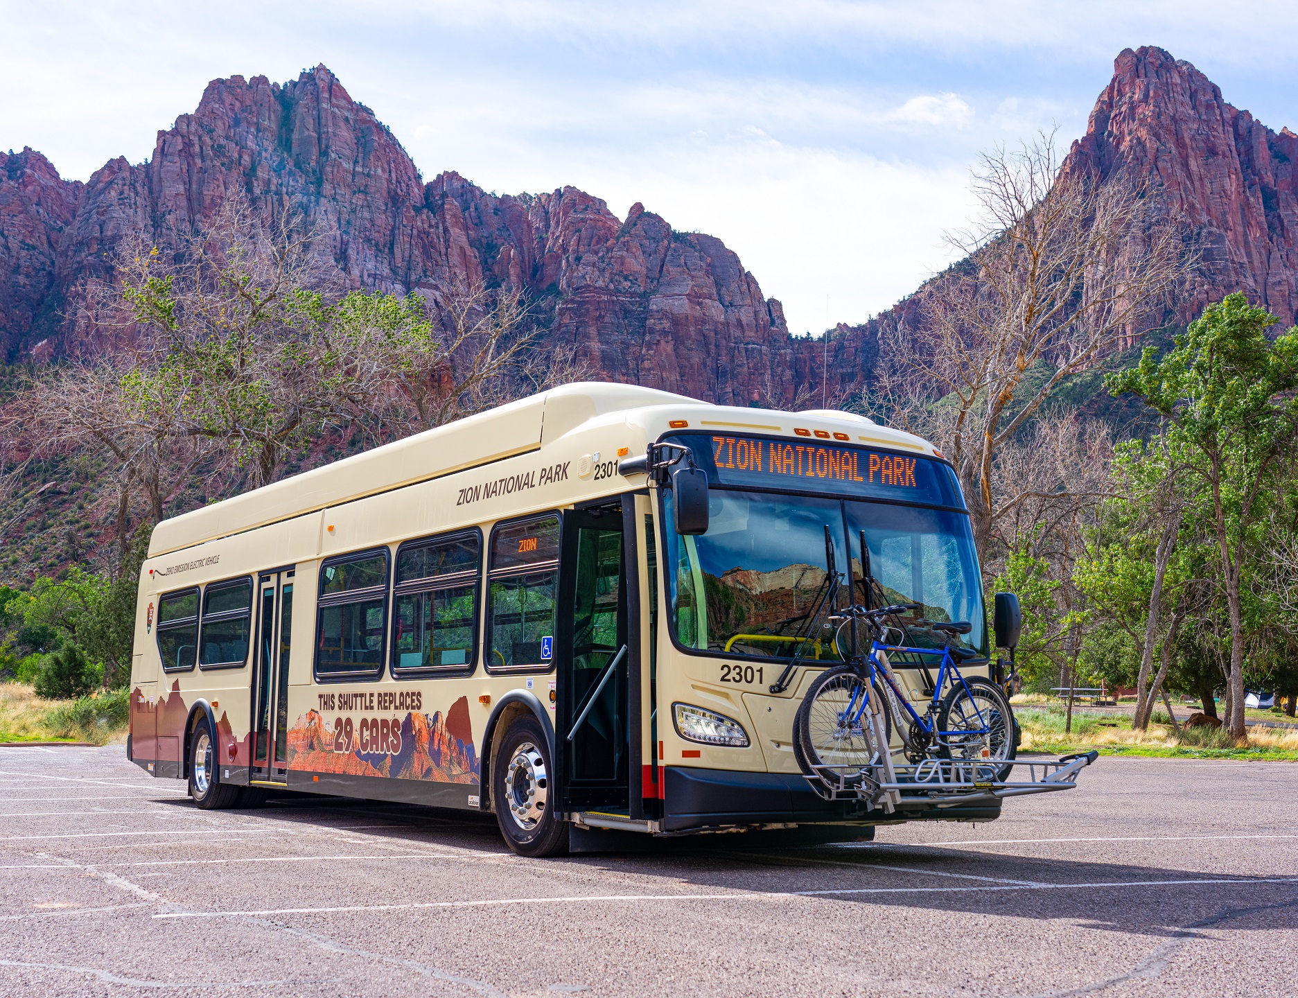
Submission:
{"label": "bus side window immediately right of the closed rear door", "polygon": [[378,676],[383,671],[387,610],[387,549],[324,562],[315,618],[315,675]]}

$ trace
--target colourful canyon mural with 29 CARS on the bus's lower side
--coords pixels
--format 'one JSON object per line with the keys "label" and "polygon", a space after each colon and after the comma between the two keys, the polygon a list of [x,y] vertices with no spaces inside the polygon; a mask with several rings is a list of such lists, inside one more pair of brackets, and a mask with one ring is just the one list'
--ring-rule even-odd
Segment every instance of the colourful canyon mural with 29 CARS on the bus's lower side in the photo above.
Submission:
{"label": "colourful canyon mural with 29 CARS on the bus's lower side", "polygon": [[326,716],[312,709],[288,729],[288,768],[347,776],[476,784],[482,775],[474,748],[469,698],[432,715],[405,718]]}

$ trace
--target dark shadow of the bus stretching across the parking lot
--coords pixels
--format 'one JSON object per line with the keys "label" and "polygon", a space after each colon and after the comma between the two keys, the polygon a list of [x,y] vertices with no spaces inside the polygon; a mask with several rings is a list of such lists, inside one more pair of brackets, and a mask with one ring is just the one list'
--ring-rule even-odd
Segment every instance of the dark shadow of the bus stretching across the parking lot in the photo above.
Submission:
{"label": "dark shadow of the bus stretching across the parking lot", "polygon": [[[192,806],[188,798],[167,801]],[[509,855],[491,814],[295,794],[230,811],[322,832],[363,832],[411,846]],[[1064,920],[1079,928],[1195,938],[1201,931],[1298,929],[1298,876],[1223,875],[1172,866],[1014,855],[935,845],[780,845],[745,834],[648,838],[614,851],[528,864],[582,864],[645,882],[628,894],[805,897],[933,912]],[[655,888],[654,881],[663,886]],[[693,888],[693,889],[691,889]]]}

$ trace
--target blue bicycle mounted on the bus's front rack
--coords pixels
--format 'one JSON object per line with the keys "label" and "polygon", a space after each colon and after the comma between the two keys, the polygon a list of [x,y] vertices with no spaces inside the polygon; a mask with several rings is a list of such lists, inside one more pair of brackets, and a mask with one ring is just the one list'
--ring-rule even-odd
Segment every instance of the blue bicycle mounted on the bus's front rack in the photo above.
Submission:
{"label": "blue bicycle mounted on the bus's front rack", "polygon": [[[957,635],[967,635],[972,629],[968,623],[920,622],[928,629],[946,635],[944,648],[884,642],[888,631],[900,631],[885,626],[884,619],[915,609],[909,603],[877,610],[857,605],[829,618],[839,622],[835,645],[844,664],[826,670],[811,681],[794,720],[794,754],[809,776],[824,776],[826,772],[840,777],[853,772],[868,775],[880,767],[890,772],[894,720],[901,735],[901,751],[911,763],[925,759],[985,763],[1014,758],[1014,712],[1005,694],[989,679],[962,675],[957,664],[976,654],[951,644]],[[875,633],[870,653],[844,654],[844,628],[851,624],[855,629],[861,623]],[[941,655],[923,715],[911,706],[889,655]],[[1002,767],[997,779],[1005,780],[1011,768]]]}

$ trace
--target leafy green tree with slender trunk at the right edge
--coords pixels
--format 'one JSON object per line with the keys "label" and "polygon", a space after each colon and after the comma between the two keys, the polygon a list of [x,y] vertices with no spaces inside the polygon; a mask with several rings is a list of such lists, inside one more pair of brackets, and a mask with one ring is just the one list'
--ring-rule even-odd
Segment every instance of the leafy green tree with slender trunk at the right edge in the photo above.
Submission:
{"label": "leafy green tree with slender trunk at the right edge", "polygon": [[1298,431],[1298,327],[1272,341],[1275,322],[1242,293],[1228,295],[1167,354],[1146,348],[1137,367],[1106,379],[1115,396],[1131,392],[1153,406],[1169,423],[1167,436],[1194,456],[1190,474],[1207,496],[1231,623],[1229,728],[1237,738],[1246,733],[1243,584]]}

